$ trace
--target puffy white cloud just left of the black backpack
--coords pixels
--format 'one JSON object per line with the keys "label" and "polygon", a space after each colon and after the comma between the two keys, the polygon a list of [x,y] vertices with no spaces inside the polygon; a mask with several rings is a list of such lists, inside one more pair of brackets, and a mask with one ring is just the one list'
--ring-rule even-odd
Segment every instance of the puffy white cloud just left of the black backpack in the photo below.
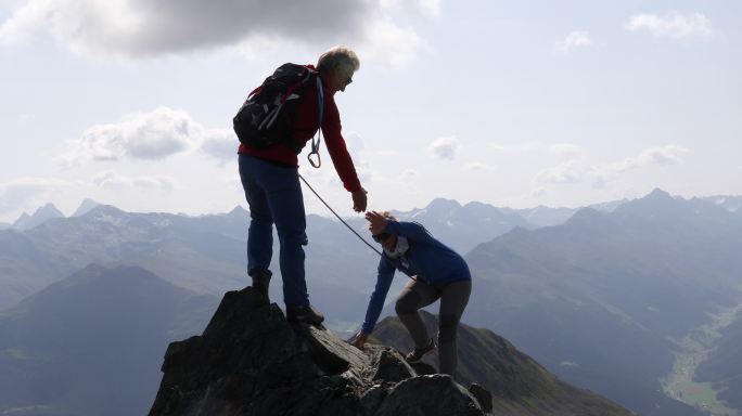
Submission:
{"label": "puffy white cloud just left of the black backpack", "polygon": [[60,160],[66,166],[124,158],[157,160],[196,148],[228,159],[234,156],[236,146],[238,140],[231,130],[208,129],[187,112],[159,107],[126,115],[119,122],[86,129],[69,143]]}

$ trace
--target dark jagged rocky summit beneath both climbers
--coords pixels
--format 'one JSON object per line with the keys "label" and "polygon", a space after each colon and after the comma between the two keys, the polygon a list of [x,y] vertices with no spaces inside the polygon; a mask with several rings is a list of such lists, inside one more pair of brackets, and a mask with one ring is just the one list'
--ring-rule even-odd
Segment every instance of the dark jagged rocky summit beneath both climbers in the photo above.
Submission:
{"label": "dark jagged rocky summit beneath both climbers", "polygon": [[415,367],[389,347],[360,351],[324,328],[289,323],[247,287],[225,295],[201,336],[170,343],[150,416],[475,416],[491,408],[481,387]]}

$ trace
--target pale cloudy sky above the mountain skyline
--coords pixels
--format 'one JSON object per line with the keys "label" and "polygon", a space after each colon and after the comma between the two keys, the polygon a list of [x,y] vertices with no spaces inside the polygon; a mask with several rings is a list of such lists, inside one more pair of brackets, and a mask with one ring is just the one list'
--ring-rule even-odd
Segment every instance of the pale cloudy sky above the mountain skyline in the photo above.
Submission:
{"label": "pale cloudy sky above the mountain skyline", "polygon": [[0,222],[246,207],[232,117],[337,44],[361,62],[335,100],[369,209],[740,195],[741,31],[735,0],[0,0]]}

